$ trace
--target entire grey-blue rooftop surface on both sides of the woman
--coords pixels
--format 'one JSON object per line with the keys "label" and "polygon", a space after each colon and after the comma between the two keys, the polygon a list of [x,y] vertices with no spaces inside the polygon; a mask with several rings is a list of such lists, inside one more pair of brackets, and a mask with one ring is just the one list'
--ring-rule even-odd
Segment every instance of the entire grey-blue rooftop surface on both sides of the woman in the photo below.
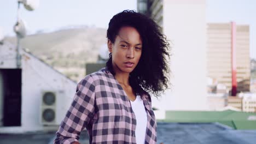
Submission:
{"label": "entire grey-blue rooftop surface on both sides of the woman", "polygon": [[[190,144],[252,144],[256,130],[234,130],[218,123],[158,123],[158,143]],[[53,143],[55,131],[27,134],[0,134],[0,143]],[[80,143],[89,143],[86,131],[80,135]]]}

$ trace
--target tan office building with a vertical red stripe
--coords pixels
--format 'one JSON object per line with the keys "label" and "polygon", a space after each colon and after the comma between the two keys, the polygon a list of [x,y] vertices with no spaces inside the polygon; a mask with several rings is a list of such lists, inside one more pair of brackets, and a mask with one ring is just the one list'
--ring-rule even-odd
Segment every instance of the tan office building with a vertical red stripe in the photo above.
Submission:
{"label": "tan office building with a vertical red stripe", "polygon": [[207,75],[230,91],[236,85],[237,92],[249,92],[248,25],[207,24]]}

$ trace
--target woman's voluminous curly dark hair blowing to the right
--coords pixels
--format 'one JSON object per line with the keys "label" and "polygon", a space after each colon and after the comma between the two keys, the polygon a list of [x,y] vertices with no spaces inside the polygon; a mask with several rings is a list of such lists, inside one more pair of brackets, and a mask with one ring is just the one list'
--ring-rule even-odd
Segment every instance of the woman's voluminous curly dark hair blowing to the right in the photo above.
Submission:
{"label": "woman's voluminous curly dark hair blowing to the right", "polygon": [[[170,72],[170,44],[160,27],[148,16],[133,10],[124,10],[114,15],[108,24],[107,38],[114,43],[121,27],[130,26],[137,29],[142,38],[142,55],[137,67],[130,73],[129,83],[133,91],[139,94],[151,92],[156,97],[168,87]],[[168,58],[168,59],[167,59]],[[112,56],[106,63],[107,69],[115,75],[112,67]]]}

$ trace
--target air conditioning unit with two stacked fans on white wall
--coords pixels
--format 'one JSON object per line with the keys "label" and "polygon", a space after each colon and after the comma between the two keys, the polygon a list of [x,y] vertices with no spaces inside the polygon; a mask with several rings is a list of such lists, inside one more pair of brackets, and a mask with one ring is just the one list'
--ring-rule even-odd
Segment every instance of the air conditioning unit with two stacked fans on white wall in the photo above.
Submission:
{"label": "air conditioning unit with two stacked fans on white wall", "polygon": [[56,125],[56,92],[43,91],[40,121],[43,125]]}

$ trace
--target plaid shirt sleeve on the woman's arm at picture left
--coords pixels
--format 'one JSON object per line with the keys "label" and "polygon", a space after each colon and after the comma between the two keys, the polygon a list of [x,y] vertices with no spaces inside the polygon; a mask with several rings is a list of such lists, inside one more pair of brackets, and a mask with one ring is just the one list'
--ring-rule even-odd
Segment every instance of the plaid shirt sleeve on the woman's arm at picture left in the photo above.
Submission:
{"label": "plaid shirt sleeve on the woman's arm at picture left", "polygon": [[56,132],[54,143],[72,143],[79,140],[80,132],[94,117],[95,85],[90,75],[77,85],[71,106]]}

